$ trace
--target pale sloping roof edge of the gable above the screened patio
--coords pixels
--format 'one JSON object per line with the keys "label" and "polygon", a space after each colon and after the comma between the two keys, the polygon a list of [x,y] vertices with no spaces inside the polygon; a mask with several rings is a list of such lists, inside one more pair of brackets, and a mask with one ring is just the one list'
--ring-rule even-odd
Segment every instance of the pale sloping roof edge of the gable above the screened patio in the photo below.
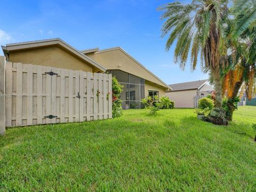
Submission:
{"label": "pale sloping roof edge of the gable above the screened patio", "polygon": [[[159,83],[157,83],[158,85],[164,86],[167,89],[172,90],[172,88],[165,84],[161,79],[159,79],[155,74],[153,74],[150,70],[148,70],[146,67],[144,67],[139,61],[137,61],[136,59],[134,59],[129,53],[127,53],[124,49],[122,49],[122,47],[111,47],[108,49],[103,49],[103,50],[99,50],[99,48],[94,48],[94,49],[88,49],[88,50],[83,50],[81,51],[82,53],[86,54],[86,53],[91,53],[94,52],[94,54],[99,54],[99,53],[103,53],[103,52],[108,52],[108,51],[114,51],[114,50],[119,50],[121,52],[123,52],[125,55],[127,55],[127,57],[129,57],[130,59],[132,59],[135,63],[137,63],[139,66],[141,66],[143,69],[145,69],[150,75],[154,76]],[[147,80],[147,79],[146,79]]]}

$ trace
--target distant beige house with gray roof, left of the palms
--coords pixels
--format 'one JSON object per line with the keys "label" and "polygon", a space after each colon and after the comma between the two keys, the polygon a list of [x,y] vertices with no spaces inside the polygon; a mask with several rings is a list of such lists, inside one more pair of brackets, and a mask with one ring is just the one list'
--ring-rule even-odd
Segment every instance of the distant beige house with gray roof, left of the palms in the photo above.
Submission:
{"label": "distant beige house with gray roof, left of the palms", "polygon": [[207,79],[177,83],[169,85],[172,91],[167,91],[166,96],[175,102],[177,108],[195,108],[195,97],[206,96],[211,93],[214,89]]}

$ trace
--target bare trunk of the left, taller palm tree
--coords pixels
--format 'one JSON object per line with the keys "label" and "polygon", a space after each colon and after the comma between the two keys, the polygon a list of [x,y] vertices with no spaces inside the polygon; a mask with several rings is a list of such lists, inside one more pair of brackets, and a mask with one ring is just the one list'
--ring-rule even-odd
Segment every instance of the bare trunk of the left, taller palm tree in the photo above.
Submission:
{"label": "bare trunk of the left, taller palm tree", "polygon": [[214,90],[216,92],[216,100],[214,102],[214,107],[221,108],[222,106],[222,81],[219,69],[211,69],[213,76]]}

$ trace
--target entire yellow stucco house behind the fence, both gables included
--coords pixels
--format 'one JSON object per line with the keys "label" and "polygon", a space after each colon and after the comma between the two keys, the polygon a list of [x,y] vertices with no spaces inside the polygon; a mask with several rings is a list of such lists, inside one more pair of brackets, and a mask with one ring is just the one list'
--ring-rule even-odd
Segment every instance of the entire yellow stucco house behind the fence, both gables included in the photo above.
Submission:
{"label": "entire yellow stucco house behind the fence, both gables included", "polygon": [[141,108],[148,95],[162,97],[168,85],[120,47],[78,51],[59,38],[2,46],[7,61],[57,68],[111,73],[124,85],[123,108]]}

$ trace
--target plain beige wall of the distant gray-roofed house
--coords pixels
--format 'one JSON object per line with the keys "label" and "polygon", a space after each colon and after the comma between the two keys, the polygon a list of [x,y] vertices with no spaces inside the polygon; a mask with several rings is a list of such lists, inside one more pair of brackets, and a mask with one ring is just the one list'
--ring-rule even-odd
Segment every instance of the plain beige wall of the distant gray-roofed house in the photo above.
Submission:
{"label": "plain beige wall of the distant gray-roofed house", "polygon": [[165,94],[175,102],[175,108],[195,108],[197,90],[173,91]]}

